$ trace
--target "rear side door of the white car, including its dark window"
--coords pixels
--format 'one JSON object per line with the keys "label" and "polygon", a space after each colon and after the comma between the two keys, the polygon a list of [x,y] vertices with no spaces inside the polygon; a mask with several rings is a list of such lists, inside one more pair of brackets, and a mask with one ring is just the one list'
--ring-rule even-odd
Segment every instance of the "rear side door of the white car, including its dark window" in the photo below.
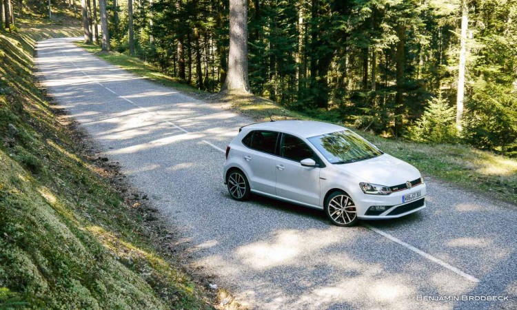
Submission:
{"label": "rear side door of the white car, including its dark window", "polygon": [[278,132],[254,130],[243,138],[246,148],[242,162],[254,192],[275,194],[274,154],[277,151],[278,136]]}

